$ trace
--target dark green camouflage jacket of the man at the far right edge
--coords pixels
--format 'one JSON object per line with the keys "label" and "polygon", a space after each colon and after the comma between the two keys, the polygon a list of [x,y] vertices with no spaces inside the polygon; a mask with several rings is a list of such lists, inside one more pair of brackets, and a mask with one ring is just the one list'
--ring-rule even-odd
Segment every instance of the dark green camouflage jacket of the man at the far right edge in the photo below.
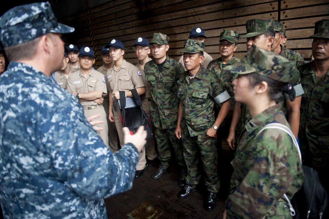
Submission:
{"label": "dark green camouflage jacket of the man at the far right edge", "polygon": [[314,62],[298,67],[304,89],[300,106],[299,145],[302,158],[310,148],[315,167],[329,166],[329,71],[316,78]]}

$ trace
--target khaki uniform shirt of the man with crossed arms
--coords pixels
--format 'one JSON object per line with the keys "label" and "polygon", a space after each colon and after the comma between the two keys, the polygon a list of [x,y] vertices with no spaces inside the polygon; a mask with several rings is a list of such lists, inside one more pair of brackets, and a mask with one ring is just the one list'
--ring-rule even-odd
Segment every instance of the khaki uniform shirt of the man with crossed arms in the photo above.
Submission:
{"label": "khaki uniform shirt of the man with crossed arms", "polygon": [[[85,78],[81,70],[78,70],[68,76],[67,91],[76,93],[88,93],[91,91],[102,91],[107,94],[104,75],[94,69],[91,69]],[[83,106],[98,105],[93,100],[80,102]]]}

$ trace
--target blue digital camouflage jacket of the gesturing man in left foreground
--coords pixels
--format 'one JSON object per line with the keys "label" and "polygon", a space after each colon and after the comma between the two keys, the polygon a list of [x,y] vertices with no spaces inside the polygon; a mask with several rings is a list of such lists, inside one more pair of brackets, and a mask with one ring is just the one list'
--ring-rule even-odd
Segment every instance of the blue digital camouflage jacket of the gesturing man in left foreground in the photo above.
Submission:
{"label": "blue digital camouflage jacket of the gesturing man in left foreground", "polygon": [[136,148],[112,154],[79,101],[29,65],[9,64],[0,103],[5,217],[107,218],[103,199],[132,187]]}

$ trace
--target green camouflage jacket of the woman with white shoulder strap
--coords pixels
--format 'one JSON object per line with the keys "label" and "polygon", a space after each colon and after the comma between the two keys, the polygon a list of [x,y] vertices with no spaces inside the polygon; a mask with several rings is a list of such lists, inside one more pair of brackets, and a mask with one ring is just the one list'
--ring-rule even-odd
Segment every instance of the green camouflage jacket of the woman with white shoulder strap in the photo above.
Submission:
{"label": "green camouflage jacket of the woman with white shoulder strap", "polygon": [[[298,152],[289,134],[269,123],[290,128],[276,104],[251,119],[231,162],[234,173],[226,201],[227,218],[291,218],[284,194],[291,198],[304,179]],[[257,135],[257,136],[256,136]]]}

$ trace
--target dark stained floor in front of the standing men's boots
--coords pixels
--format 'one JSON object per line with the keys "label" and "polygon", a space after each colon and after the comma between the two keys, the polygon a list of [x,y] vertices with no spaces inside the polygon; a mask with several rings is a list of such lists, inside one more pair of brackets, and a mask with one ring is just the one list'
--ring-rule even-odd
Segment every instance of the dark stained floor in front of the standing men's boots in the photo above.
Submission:
{"label": "dark stained floor in front of the standing men's boots", "polygon": [[222,218],[232,175],[229,163],[232,152],[223,143],[222,152],[218,152],[220,190],[217,193],[217,206],[213,211],[203,208],[203,200],[207,194],[203,180],[200,181],[197,192],[190,193],[185,199],[177,197],[182,187],[178,185],[180,169],[175,160],[171,162],[171,171],[168,174],[152,179],[152,174],[160,164],[156,159],[140,178],[134,180],[130,191],[105,199],[108,218]]}

